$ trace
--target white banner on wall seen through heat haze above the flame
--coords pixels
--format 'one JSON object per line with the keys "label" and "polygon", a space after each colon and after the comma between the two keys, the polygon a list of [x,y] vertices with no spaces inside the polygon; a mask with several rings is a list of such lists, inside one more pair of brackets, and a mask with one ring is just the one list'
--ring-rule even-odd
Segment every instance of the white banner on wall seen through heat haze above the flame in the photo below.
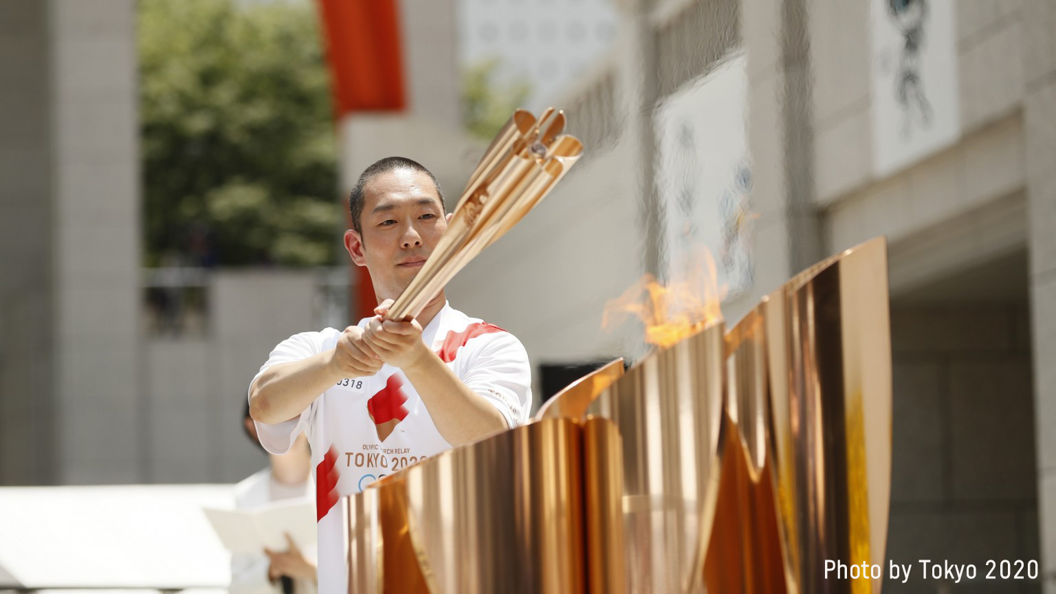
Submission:
{"label": "white banner on wall seen through heat haze above the flame", "polygon": [[670,95],[656,113],[657,189],[664,204],[667,278],[698,278],[715,260],[725,298],[752,285],[747,57],[734,56]]}

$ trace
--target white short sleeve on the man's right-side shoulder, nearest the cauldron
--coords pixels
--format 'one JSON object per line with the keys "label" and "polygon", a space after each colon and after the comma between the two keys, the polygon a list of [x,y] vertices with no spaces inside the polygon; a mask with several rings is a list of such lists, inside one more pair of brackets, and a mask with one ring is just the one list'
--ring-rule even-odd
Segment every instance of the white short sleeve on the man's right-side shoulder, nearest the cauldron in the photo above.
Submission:
{"label": "white short sleeve on the man's right-side shoulder, nearest the cauldron", "polygon": [[461,380],[493,404],[509,427],[523,425],[531,411],[528,353],[512,334],[502,332],[486,336],[488,339],[482,340],[479,350],[469,353],[471,356]]}

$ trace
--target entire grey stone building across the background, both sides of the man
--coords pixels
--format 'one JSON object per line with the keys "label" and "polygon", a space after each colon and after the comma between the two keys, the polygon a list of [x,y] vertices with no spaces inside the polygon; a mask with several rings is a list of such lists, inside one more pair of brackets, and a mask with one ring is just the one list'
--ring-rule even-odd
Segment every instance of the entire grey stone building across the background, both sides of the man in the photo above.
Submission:
{"label": "entire grey stone building across the background, both sides of the man", "polygon": [[[1056,592],[1056,4],[924,4],[614,1],[608,52],[542,97],[587,156],[449,295],[535,366],[634,359],[640,326],[603,329],[605,303],[685,275],[698,247],[733,322],[884,235],[888,557],[1037,559],[1044,575],[885,591]],[[458,122],[456,4],[400,15],[408,108],[343,117],[342,185],[400,153],[453,197],[483,148]],[[132,0],[0,2],[4,484],[249,474],[263,458],[233,432],[234,392],[318,320],[288,307],[313,301],[312,279],[247,273],[213,283],[208,339],[145,331],[135,61]]]}

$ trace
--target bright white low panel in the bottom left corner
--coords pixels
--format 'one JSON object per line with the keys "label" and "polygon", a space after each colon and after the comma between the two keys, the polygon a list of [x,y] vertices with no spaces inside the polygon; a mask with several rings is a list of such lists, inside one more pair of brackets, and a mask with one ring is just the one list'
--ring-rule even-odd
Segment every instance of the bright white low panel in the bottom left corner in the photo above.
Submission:
{"label": "bright white low panel in the bottom left corner", "polygon": [[233,485],[0,488],[0,588],[226,589],[202,507],[233,504]]}

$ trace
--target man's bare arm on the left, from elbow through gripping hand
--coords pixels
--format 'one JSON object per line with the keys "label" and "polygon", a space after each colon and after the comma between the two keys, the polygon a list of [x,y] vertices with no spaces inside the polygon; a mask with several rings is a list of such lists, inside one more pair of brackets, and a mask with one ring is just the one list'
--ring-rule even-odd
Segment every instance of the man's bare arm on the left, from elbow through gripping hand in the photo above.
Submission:
{"label": "man's bare arm on the left, from elbow through gripping hand", "polygon": [[264,370],[249,387],[249,415],[265,425],[289,421],[342,377],[377,373],[381,359],[362,336],[363,329],[346,328],[334,349]]}

